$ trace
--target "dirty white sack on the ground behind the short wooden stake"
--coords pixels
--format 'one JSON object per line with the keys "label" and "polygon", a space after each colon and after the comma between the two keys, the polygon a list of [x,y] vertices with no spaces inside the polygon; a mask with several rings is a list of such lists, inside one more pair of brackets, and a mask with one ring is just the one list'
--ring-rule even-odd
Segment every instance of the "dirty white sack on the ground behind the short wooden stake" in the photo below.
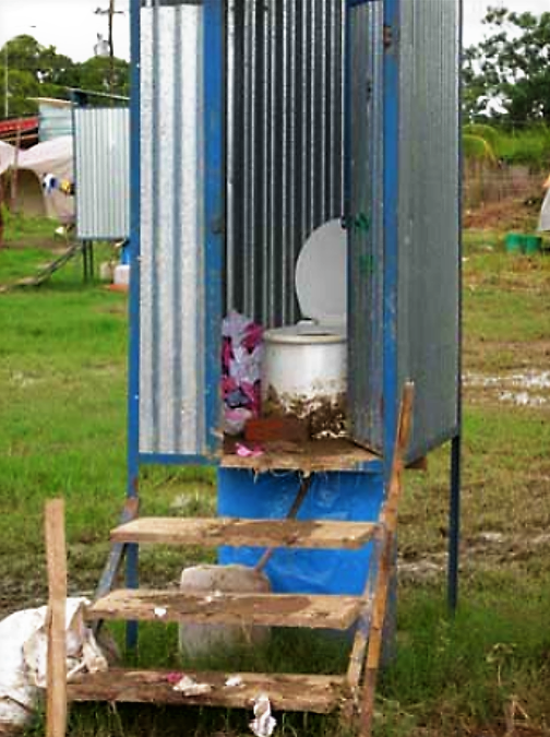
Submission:
{"label": "dirty white sack on the ground behind the short wooden stake", "polygon": [[[87,604],[82,597],[67,599],[68,679],[108,668],[94,633],[84,623]],[[47,686],[47,611],[46,606],[23,609],[0,621],[0,734],[27,723]]]}

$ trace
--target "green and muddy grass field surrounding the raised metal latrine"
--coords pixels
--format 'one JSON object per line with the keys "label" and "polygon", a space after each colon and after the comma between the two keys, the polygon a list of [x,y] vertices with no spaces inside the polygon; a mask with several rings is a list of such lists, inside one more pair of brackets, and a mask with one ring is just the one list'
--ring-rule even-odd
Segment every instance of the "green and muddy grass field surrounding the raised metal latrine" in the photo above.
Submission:
{"label": "green and muddy grass field surrounding the raised metal latrine", "polygon": [[[28,275],[33,259],[44,254],[40,243],[50,242],[49,223],[10,228],[0,283],[17,270]],[[467,371],[547,370],[550,258],[506,255],[499,231],[466,234],[465,257]],[[37,289],[0,295],[0,611],[7,614],[46,596],[45,499],[62,494],[67,500],[71,591],[91,592],[105,562],[125,487],[127,298],[84,285],[75,261]],[[527,727],[533,735],[549,728],[550,405],[506,404],[491,387],[467,387],[465,400],[462,606],[450,620],[443,448],[430,457],[428,474],[408,476],[398,647],[381,682],[380,736],[503,735],[514,703],[522,735]],[[147,467],[141,488],[147,513],[215,509],[210,471]],[[183,566],[200,559],[207,555],[198,549],[144,549],[144,580],[175,583]],[[122,635],[120,626],[115,633]],[[145,627],[140,658],[181,667],[176,628]],[[289,632],[264,650],[224,652],[202,665],[306,664],[323,671],[335,663],[345,667],[340,643]],[[215,710],[86,706],[72,710],[70,730],[75,737],[249,734],[249,718]],[[279,722],[282,735],[345,737],[331,718],[279,715]],[[43,728],[38,720],[31,733]]]}

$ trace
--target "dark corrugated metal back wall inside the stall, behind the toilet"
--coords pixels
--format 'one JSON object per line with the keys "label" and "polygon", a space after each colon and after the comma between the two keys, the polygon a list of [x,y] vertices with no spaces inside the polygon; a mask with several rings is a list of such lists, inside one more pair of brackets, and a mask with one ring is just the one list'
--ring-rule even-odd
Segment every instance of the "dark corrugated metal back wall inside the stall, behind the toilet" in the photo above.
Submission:
{"label": "dark corrugated metal back wall inside the stall, behind the toilet", "polygon": [[295,263],[343,215],[345,3],[229,0],[227,305],[298,317]]}

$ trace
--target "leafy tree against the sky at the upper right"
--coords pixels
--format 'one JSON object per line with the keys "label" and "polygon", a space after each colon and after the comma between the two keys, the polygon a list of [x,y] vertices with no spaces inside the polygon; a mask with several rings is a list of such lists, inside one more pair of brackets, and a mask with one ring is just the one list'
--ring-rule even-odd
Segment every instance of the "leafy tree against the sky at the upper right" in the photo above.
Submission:
{"label": "leafy tree against the sky at the upper right", "polygon": [[489,35],[464,55],[465,117],[550,123],[550,12],[490,7],[483,24]]}

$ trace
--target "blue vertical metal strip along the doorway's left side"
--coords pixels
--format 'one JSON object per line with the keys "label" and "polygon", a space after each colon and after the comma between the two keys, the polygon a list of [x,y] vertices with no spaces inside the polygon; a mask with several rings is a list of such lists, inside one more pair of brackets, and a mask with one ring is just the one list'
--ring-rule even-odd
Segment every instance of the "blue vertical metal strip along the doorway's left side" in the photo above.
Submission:
{"label": "blue vertical metal strip along the doorway's left side", "polygon": [[220,330],[225,245],[225,2],[204,0],[205,443],[219,448]]}

